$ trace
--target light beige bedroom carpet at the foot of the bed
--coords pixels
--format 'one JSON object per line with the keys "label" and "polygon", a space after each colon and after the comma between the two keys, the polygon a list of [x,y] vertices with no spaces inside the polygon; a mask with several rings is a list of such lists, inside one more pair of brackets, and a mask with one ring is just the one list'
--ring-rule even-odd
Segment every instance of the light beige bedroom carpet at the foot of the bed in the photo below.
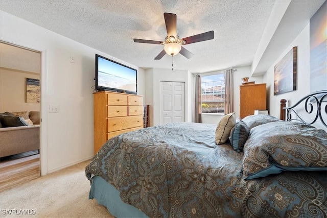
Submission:
{"label": "light beige bedroom carpet at the foot of the bed", "polygon": [[106,207],[88,199],[90,183],[85,177],[85,166],[89,162],[1,191],[0,217],[113,218]]}

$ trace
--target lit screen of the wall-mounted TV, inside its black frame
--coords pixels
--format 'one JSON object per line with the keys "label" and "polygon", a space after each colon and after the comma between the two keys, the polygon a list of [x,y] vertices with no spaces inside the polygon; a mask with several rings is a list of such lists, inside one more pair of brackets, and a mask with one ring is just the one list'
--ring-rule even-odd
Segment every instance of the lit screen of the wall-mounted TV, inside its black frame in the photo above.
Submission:
{"label": "lit screen of the wall-mounted TV, inside its black frame", "polygon": [[102,71],[98,72],[98,85],[102,87],[123,89],[129,91],[136,90],[136,81],[115,76]]}

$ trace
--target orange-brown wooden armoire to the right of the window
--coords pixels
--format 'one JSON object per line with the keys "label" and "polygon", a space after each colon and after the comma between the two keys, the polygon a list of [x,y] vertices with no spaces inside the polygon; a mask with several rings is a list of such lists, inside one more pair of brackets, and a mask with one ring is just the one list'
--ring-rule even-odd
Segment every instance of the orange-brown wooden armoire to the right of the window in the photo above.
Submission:
{"label": "orange-brown wooden armoire to the right of the window", "polygon": [[240,117],[253,115],[254,110],[267,109],[266,83],[240,85]]}

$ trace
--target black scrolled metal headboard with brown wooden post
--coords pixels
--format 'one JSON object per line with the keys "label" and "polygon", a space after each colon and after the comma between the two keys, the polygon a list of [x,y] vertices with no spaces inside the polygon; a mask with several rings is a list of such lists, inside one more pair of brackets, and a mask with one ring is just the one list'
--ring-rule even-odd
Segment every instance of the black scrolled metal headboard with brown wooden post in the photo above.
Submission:
{"label": "black scrolled metal headboard with brown wooden post", "polygon": [[[304,116],[298,114],[295,111],[295,107],[300,105],[301,103],[305,103],[305,112],[310,114],[312,118],[308,121],[304,120]],[[323,107],[322,103],[324,102],[325,106]],[[316,91],[311,94],[308,94],[300,101],[298,101],[292,107],[285,107],[286,100],[281,100],[281,119],[283,120],[297,120],[303,124],[311,125],[316,123],[316,121],[321,121],[322,125],[327,127],[327,90]],[[296,109],[297,110],[297,109]],[[298,110],[297,110],[298,111]],[[303,118],[302,118],[303,117]],[[309,116],[308,116],[309,117]],[[308,118],[306,117],[306,118]]]}

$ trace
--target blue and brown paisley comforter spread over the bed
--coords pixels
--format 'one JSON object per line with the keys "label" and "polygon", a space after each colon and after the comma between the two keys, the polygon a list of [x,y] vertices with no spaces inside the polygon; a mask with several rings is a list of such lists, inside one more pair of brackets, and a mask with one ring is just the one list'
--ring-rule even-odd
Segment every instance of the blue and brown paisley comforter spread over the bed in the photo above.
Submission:
{"label": "blue and brown paisley comforter spread over the bed", "polygon": [[216,125],[174,123],[109,139],[86,167],[149,217],[326,217],[326,172],[245,180]]}

